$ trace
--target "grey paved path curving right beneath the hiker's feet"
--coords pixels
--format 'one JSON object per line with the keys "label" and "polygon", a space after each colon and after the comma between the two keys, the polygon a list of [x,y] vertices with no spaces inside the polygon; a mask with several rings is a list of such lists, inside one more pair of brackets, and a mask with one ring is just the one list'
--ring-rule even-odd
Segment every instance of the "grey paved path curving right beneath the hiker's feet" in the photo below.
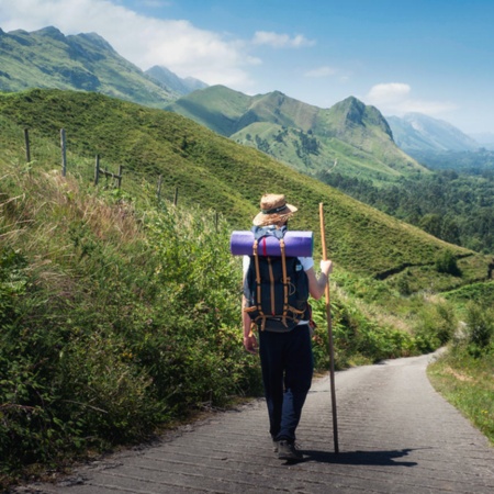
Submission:
{"label": "grey paved path curving right beneath the hiker's feet", "polygon": [[301,463],[274,457],[265,403],[257,401],[22,492],[492,494],[494,448],[433,390],[430,358],[337,373],[339,454],[324,378],[314,382],[299,428]]}

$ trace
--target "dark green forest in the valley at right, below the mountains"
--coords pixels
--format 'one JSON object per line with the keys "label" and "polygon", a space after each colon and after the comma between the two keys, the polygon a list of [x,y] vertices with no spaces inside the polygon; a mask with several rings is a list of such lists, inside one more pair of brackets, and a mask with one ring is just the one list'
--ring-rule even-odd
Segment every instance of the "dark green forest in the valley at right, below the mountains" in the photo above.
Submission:
{"label": "dark green forest in the valley at right, below the mountains", "polygon": [[437,169],[401,178],[388,188],[334,171],[318,172],[317,178],[442,240],[483,254],[494,251],[492,169]]}

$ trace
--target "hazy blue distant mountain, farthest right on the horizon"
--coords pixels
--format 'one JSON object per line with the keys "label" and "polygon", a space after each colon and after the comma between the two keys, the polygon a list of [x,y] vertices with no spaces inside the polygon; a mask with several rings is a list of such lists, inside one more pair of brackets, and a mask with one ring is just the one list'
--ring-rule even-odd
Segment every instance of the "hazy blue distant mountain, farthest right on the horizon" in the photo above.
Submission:
{"label": "hazy blue distant mountain, farthest right on the horizon", "polygon": [[420,113],[388,116],[386,120],[395,143],[412,156],[415,153],[473,151],[481,147],[453,125]]}

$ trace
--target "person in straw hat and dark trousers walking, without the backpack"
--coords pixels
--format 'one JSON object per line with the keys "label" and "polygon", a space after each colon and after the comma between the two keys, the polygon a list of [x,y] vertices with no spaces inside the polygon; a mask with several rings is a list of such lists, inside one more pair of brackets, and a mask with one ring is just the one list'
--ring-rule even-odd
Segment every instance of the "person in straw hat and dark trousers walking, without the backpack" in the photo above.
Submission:
{"label": "person in straw hat and dark trousers walking, without the backpack", "polygon": [[[254,218],[252,224],[272,229],[285,228],[288,220],[297,211],[295,206],[287,203],[283,194],[262,195],[260,209],[261,212]],[[314,367],[310,307],[308,304],[304,304],[306,310],[303,312],[301,321],[292,329],[281,332],[279,328],[270,329],[269,318],[258,319],[257,324],[254,323],[259,338],[258,344],[252,332],[252,319],[246,312],[249,304],[246,296],[246,283],[248,283],[246,280],[252,279],[252,274],[248,276],[251,258],[252,263],[255,263],[254,257],[244,256],[244,347],[250,353],[259,351],[269,415],[269,431],[274,452],[281,460],[302,460],[303,454],[295,446],[295,429],[311,388]],[[260,260],[260,257],[258,259]],[[321,261],[322,272],[317,278],[312,257],[300,257],[297,259],[306,274],[304,282],[308,284],[308,293],[316,300],[321,299],[332,272],[332,261]],[[255,268],[251,267],[250,269]],[[266,292],[269,292],[269,290],[266,290]],[[269,294],[265,296],[269,296]],[[262,326],[265,326],[263,329]]]}

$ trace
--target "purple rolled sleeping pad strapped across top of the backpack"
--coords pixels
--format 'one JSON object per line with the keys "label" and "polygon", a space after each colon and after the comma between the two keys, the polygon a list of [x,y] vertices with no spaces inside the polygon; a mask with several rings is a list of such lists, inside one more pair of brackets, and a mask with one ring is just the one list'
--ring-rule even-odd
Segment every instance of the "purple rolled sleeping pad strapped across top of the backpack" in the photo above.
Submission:
{"label": "purple rolled sleeping pad strapped across top of the backpack", "polygon": [[[312,232],[287,232],[284,235],[284,254],[289,257],[312,257]],[[254,233],[250,231],[235,231],[229,239],[229,250],[234,256],[251,256]],[[280,242],[272,236],[259,240],[259,256],[281,256]]]}

